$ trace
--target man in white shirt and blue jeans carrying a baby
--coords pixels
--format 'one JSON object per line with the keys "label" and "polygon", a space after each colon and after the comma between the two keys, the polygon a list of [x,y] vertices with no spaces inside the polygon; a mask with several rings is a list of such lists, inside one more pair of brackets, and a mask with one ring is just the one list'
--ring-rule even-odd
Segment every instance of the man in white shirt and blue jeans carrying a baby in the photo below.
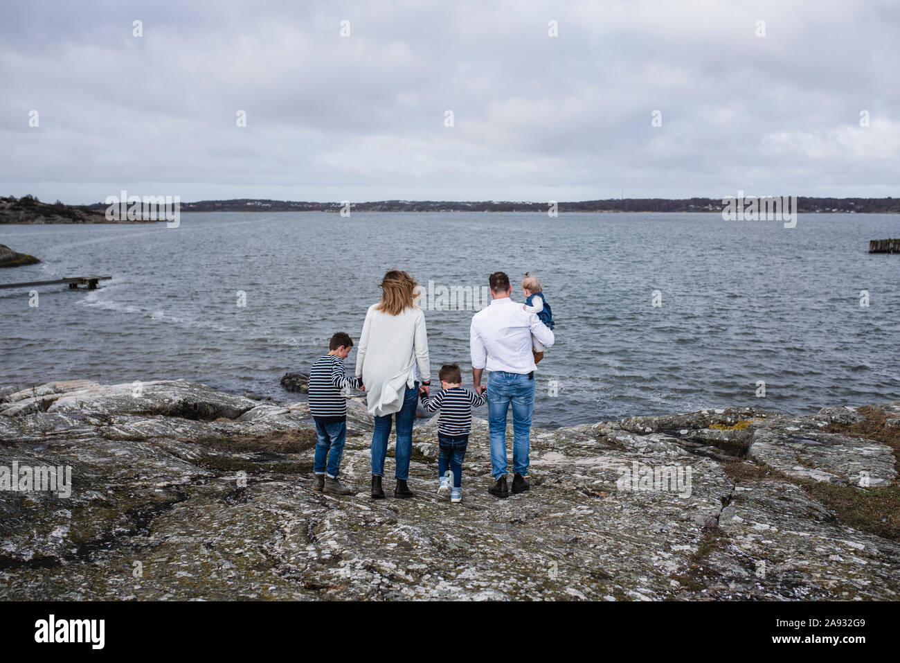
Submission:
{"label": "man in white shirt and blue jeans carrying a baby", "polygon": [[531,414],[535,409],[535,356],[532,335],[545,347],[554,344],[554,332],[541,322],[536,313],[527,313],[522,304],[510,299],[512,287],[503,272],[491,274],[491,305],[472,318],[470,346],[472,351],[473,388],[481,394],[482,373],[487,368],[488,422],[491,426],[491,465],[496,483],[488,492],[496,497],[509,497],[507,484],[506,423],[512,405],[512,459],[515,476],[512,492],[525,492],[530,486],[528,454],[531,449]]}

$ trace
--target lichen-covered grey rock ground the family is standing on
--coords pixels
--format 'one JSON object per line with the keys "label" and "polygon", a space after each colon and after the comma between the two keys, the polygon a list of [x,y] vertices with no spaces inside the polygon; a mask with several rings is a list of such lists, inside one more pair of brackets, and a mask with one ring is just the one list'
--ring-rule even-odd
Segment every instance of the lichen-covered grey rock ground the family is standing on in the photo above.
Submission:
{"label": "lichen-covered grey rock ground the family is standing on", "polygon": [[[487,424],[476,419],[465,501],[453,505],[434,495],[434,420],[413,431],[417,497],[372,501],[372,421],[362,401],[348,403],[343,477],[360,492],[336,497],[311,490],[315,434],[302,402],[182,380],[0,389],[0,472],[72,474],[68,498],[0,492],[0,597],[900,595],[900,401],[535,429],[532,490],[504,501],[485,490]],[[689,483],[659,489],[644,482],[648,468]]]}

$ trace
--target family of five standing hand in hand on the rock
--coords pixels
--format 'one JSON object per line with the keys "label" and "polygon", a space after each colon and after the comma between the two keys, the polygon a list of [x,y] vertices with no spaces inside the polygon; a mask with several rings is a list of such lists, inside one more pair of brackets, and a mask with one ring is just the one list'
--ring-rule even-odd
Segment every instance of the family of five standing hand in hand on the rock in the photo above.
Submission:
{"label": "family of five standing hand in hand on the rock", "polygon": [[[329,353],[312,366],[310,412],[316,423],[313,488],[336,495],[353,491],[338,480],[340,459],[347,438],[347,402],[342,390],[365,391],[368,410],[374,416],[372,434],[372,497],[384,497],[382,478],[388,438],[396,419],[396,486],[394,497],[412,497],[407,482],[412,455],[412,422],[419,397],[428,412],[440,411],[437,440],[440,497],[462,500],[462,467],[472,408],[488,404],[491,430],[491,465],[495,483],[488,492],[508,497],[506,426],[509,406],[513,417],[513,494],[529,488],[528,456],[531,415],[535,407],[535,369],[544,349],[554,344],[550,306],[536,277],[526,275],[522,293],[526,304],[511,299],[512,287],[503,272],[490,277],[492,301],[475,313],[470,330],[473,390],[464,389],[460,368],[447,363],[441,368],[441,391],[430,395],[428,333],[425,315],[416,304],[418,284],[407,272],[392,269],[381,283],[382,298],[365,313],[356,352],[356,377],[345,375],[344,360],[353,348],[345,332],[336,333]],[[540,315],[540,317],[539,317]],[[482,386],[482,373],[490,373]],[[451,486],[452,484],[452,486]]]}

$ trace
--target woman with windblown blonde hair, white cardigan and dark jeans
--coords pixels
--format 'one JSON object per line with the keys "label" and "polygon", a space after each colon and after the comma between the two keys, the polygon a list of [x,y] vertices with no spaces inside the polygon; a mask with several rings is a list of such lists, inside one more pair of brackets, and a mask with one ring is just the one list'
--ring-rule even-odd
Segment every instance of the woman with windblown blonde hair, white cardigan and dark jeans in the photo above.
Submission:
{"label": "woman with windblown blonde hair, white cardigan and dark jeans", "polygon": [[369,306],[356,350],[356,376],[361,377],[368,397],[369,413],[375,418],[372,434],[372,496],[384,497],[384,459],[391,436],[392,418],[397,417],[395,459],[397,486],[394,497],[415,495],[407,486],[412,455],[412,421],[416,416],[419,389],[428,395],[428,336],[425,315],[416,305],[416,279],[392,269],[384,275],[382,299]]}

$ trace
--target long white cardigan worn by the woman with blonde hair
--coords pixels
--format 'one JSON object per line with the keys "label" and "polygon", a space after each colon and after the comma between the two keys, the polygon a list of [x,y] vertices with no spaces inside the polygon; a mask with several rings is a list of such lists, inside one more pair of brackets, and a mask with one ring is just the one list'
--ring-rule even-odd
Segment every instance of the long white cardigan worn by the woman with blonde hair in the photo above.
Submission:
{"label": "long white cardigan worn by the woman with blonde hair", "polygon": [[408,308],[391,315],[369,306],[356,350],[356,375],[363,377],[369,413],[400,412],[406,389],[431,379],[425,314]]}

